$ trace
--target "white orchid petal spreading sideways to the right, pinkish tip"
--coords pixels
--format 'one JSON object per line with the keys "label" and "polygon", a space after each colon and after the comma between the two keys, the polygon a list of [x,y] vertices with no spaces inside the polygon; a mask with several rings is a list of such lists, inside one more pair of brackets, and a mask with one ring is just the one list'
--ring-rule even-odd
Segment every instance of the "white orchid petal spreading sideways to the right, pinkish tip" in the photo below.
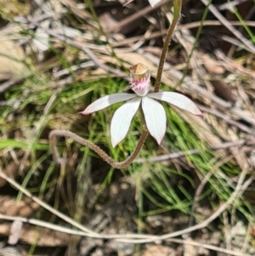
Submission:
{"label": "white orchid petal spreading sideways to the right, pinkish tip", "polygon": [[172,92],[160,92],[148,94],[147,96],[156,100],[167,101],[167,103],[170,103],[172,105],[177,106],[180,109],[188,111],[195,116],[203,115],[199,108],[195,105],[195,103],[183,94]]}

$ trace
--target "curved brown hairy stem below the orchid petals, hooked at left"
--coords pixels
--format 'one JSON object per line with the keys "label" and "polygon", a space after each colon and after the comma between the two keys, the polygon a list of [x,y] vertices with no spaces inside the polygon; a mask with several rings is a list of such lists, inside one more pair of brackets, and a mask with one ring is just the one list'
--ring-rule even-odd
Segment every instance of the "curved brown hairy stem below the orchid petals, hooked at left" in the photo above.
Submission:
{"label": "curved brown hairy stem below the orchid petals, hooked at left", "polygon": [[59,156],[59,151],[57,148],[57,137],[60,137],[60,136],[74,139],[78,143],[88,146],[88,148],[90,150],[96,152],[99,156],[101,156],[105,160],[105,162],[109,163],[113,168],[122,169],[122,168],[126,168],[131,162],[133,162],[133,159],[136,156],[138,156],[139,151],[143,147],[144,141],[148,136],[148,132],[146,130],[143,130],[143,132],[139,138],[139,142],[138,142],[136,148],[134,149],[133,153],[130,156],[128,156],[127,159],[124,160],[123,162],[114,161],[111,158],[111,156],[107,155],[105,153],[105,151],[101,150],[98,145],[94,145],[94,143],[88,141],[87,139],[83,139],[82,137],[80,137],[77,134],[74,134],[70,131],[58,130],[58,129],[51,131],[48,135],[49,145],[50,145],[51,151],[53,152],[55,162],[58,162],[58,163],[66,162],[65,159],[63,159]]}

